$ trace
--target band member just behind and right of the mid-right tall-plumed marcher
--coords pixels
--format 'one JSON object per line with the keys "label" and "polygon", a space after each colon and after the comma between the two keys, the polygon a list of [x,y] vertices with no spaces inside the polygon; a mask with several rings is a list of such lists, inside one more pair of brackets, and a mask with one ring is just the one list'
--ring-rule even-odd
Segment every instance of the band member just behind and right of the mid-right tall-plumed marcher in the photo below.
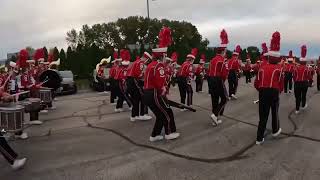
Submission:
{"label": "band member just behind and right of the mid-right tall-plumed marcher", "polygon": [[237,99],[236,93],[238,88],[238,74],[241,68],[241,65],[239,63],[240,52],[241,52],[241,47],[238,45],[232,54],[232,58],[228,62],[229,98],[233,98],[233,99]]}

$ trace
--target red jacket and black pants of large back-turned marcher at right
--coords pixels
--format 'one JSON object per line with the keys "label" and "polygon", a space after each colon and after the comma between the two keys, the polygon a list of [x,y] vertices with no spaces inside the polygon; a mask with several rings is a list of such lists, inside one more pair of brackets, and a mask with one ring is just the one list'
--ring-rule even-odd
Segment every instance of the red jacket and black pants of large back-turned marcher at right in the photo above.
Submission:
{"label": "red jacket and black pants of large back-turned marcher at right", "polygon": [[262,66],[255,79],[254,86],[259,91],[259,126],[257,141],[262,141],[269,112],[272,114],[272,131],[277,133],[279,124],[279,94],[283,90],[283,69],[279,64]]}

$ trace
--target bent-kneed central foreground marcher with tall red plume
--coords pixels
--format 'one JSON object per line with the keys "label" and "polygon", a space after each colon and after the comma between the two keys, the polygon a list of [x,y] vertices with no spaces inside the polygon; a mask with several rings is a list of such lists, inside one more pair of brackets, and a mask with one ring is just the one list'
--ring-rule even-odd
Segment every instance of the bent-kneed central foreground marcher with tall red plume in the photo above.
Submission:
{"label": "bent-kneed central foreground marcher with tall red plume", "polygon": [[156,122],[150,141],[161,141],[161,130],[164,127],[165,139],[172,140],[180,136],[176,132],[173,111],[166,103],[166,75],[163,60],[171,44],[171,30],[163,27],[159,33],[159,48],[152,50],[153,61],[148,64],[144,76],[144,100],[156,116]]}

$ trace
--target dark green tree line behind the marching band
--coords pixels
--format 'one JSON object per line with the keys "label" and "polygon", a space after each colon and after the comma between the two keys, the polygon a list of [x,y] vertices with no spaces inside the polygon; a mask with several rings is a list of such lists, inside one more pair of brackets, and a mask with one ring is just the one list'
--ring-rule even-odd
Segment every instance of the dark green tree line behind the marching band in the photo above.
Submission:
{"label": "dark green tree line behind the marching band", "polygon": [[[205,54],[209,62],[216,55],[214,47],[209,48],[209,40],[204,39],[196,26],[185,21],[172,21],[167,19],[148,19],[145,17],[131,16],[120,18],[115,22],[83,25],[79,31],[70,30],[66,34],[66,41],[69,45],[67,50],[60,51],[55,47],[49,52],[46,47],[45,60],[52,56],[56,61],[60,58],[60,70],[71,70],[79,78],[91,76],[92,70],[102,58],[112,56],[113,49],[129,49],[131,61],[141,56],[144,51],[151,52],[158,43],[158,34],[163,26],[172,30],[173,44],[168,48],[168,54],[178,53],[178,64],[182,64],[192,48],[198,48],[199,54],[195,63],[199,61],[200,55]],[[34,49],[27,47],[29,54]],[[233,48],[227,51],[227,57],[231,57]],[[245,61],[247,53],[251,60],[259,57],[257,47],[248,47],[240,53],[240,58]],[[15,60],[13,60],[15,61]]]}

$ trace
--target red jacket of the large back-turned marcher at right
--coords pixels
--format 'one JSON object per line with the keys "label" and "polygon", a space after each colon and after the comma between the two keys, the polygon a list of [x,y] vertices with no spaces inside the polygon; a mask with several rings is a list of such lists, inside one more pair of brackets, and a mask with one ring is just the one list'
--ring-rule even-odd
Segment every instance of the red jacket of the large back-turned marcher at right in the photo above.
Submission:
{"label": "red jacket of the large back-turned marcher at right", "polygon": [[259,69],[255,79],[254,86],[256,89],[274,88],[280,92],[283,90],[284,78],[282,68],[279,64],[267,64]]}

